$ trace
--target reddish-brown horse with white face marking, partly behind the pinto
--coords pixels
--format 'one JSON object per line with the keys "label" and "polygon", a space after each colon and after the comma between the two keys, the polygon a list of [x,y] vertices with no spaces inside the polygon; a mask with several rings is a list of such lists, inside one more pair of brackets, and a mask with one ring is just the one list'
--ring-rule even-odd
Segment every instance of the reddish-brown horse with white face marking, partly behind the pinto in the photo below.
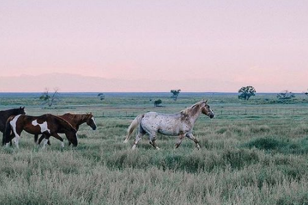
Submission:
{"label": "reddish-brown horse with white face marking, partly behind the pinto", "polygon": [[[73,128],[76,129],[76,131],[79,130],[79,126],[81,124],[86,123],[88,126],[90,126],[92,128],[93,131],[95,131],[97,129],[97,124],[95,123],[95,118],[92,115],[92,113],[88,114],[71,114],[71,113],[66,113],[64,115],[57,115],[57,117],[60,117],[64,120],[66,120],[67,122],[69,122]],[[42,141],[42,139],[44,139],[44,135],[42,135],[40,137],[40,139],[38,139],[38,135],[34,135],[34,141],[38,144],[40,144],[40,142]],[[50,145],[50,142],[47,142]],[[68,145],[70,145],[70,142],[68,142]]]}

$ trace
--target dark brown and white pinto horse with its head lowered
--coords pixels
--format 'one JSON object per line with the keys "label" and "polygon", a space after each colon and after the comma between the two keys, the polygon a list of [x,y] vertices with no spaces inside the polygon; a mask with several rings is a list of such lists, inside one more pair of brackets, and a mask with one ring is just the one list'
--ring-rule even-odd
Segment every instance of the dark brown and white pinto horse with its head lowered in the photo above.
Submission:
{"label": "dark brown and white pinto horse with its head lowered", "polygon": [[64,133],[73,146],[78,144],[77,131],[70,123],[55,115],[45,114],[40,116],[16,115],[8,118],[3,133],[3,145],[8,146],[8,143],[15,137],[16,147],[19,148],[18,141],[23,130],[32,135],[44,134],[43,148],[50,136],[62,141],[62,147],[64,146],[62,137],[57,133]]}

